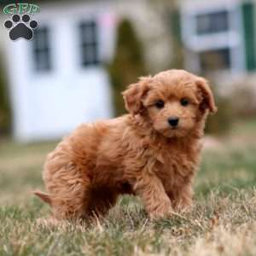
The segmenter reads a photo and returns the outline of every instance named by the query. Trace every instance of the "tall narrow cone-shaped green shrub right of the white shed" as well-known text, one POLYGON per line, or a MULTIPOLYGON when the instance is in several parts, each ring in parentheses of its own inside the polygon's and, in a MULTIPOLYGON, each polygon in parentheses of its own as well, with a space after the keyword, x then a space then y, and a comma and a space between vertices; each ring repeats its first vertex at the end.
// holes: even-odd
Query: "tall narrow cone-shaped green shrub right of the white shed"
POLYGON ((116 51, 108 67, 113 86, 115 114, 125 113, 121 92, 137 78, 146 74, 143 60, 143 45, 129 20, 121 20, 117 30, 116 51))

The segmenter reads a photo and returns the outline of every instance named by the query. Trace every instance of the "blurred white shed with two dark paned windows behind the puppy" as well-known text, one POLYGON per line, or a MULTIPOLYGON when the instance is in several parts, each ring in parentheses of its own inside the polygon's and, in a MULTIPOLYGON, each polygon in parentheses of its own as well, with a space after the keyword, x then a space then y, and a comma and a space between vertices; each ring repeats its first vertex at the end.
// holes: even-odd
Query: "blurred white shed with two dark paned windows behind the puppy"
MULTIPOLYGON (((23 142, 58 138, 79 123, 113 113, 103 67, 113 55, 116 24, 108 5, 39 6, 40 13, 32 15, 38 21, 32 41, 11 41, 7 30, 1 32, 14 135, 23 142)), ((9 17, 2 15, 2 20, 9 17)))

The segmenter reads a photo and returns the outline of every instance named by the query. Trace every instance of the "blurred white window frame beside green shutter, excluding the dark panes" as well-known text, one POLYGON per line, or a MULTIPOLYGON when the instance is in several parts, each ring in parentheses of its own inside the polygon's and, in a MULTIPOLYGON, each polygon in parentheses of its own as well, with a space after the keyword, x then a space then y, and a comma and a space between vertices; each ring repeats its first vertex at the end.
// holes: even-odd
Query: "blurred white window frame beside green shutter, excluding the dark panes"
MULTIPOLYGON (((245 52, 242 38, 242 17, 239 4, 212 3, 207 5, 183 5, 181 11, 183 44, 188 49, 185 58, 186 68, 201 73, 200 54, 205 51, 230 49, 230 68, 217 70, 230 73, 245 71, 245 52), (211 15, 218 12, 228 13, 228 30, 212 33, 197 33, 197 15, 211 15), (190 59, 190 60, 189 60, 190 59)), ((214 73, 215 71, 212 71, 214 73)))

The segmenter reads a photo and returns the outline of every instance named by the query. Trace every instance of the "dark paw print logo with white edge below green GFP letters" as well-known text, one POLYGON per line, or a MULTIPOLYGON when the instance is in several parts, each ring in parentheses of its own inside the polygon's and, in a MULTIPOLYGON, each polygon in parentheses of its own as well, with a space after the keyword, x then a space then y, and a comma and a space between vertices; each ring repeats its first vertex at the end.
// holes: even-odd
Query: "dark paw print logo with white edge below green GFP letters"
POLYGON ((13 15, 12 20, 6 20, 4 26, 9 30, 9 38, 16 40, 24 38, 31 40, 33 38, 33 30, 38 27, 36 20, 30 20, 29 15, 13 15))

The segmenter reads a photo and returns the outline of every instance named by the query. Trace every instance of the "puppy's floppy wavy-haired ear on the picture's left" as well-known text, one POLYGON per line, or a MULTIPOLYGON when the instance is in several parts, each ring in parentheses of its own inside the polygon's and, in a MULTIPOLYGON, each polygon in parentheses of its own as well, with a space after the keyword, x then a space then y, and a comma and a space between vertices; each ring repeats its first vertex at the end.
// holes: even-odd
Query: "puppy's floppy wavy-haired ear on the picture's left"
POLYGON ((130 84, 128 89, 122 95, 125 101, 125 108, 132 114, 137 114, 143 110, 143 96, 149 90, 149 81, 151 77, 141 78, 137 84, 130 84))

